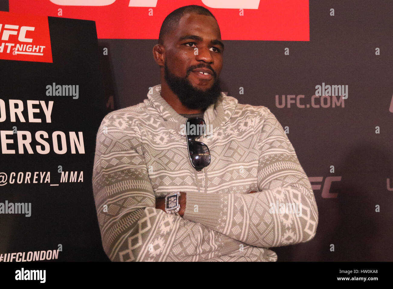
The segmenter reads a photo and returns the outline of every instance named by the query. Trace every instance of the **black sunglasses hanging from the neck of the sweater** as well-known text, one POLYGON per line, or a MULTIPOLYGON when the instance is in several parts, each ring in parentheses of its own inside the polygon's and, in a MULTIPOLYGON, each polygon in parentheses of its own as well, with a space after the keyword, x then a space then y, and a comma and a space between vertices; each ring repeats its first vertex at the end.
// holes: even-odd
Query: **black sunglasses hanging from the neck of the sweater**
POLYGON ((205 120, 200 117, 191 117, 185 121, 185 134, 187 137, 187 149, 191 165, 196 171, 202 170, 210 163, 210 151, 206 144, 196 141, 206 132, 205 120))

